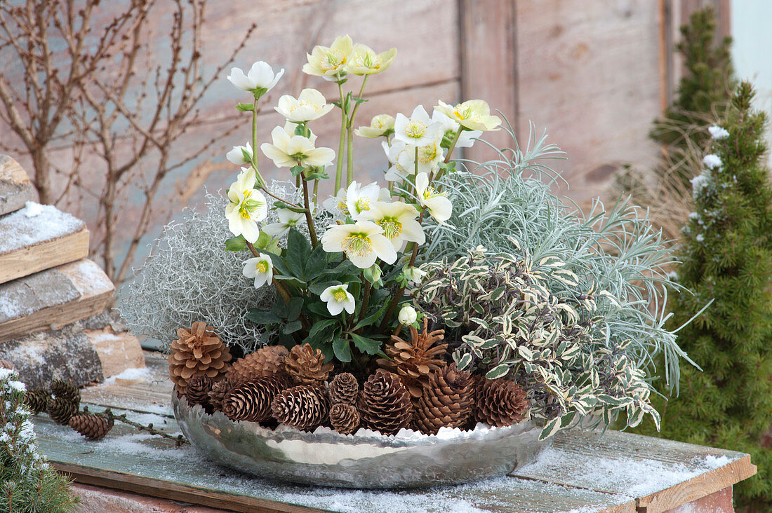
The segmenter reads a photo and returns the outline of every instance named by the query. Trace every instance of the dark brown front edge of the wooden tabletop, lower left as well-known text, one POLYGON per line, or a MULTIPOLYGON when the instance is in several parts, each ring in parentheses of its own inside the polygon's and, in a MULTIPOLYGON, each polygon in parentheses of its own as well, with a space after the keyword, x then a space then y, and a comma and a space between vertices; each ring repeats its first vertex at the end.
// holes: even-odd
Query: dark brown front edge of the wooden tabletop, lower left
POLYGON ((128 491, 172 501, 184 501, 209 508, 221 508, 230 511, 253 511, 254 513, 327 513, 321 509, 305 508, 303 506, 245 497, 222 491, 210 491, 205 488, 184 486, 173 481, 144 478, 124 472, 105 471, 99 468, 59 461, 49 461, 49 464, 56 471, 66 474, 77 483, 128 491))

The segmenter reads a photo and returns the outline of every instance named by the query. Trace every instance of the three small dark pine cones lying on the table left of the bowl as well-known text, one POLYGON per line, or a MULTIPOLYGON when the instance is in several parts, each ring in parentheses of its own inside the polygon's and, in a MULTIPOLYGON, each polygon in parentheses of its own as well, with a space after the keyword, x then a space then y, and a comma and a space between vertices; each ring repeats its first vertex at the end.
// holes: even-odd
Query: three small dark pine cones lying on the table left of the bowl
POLYGON ((49 390, 28 390, 24 402, 32 413, 48 413, 56 424, 72 427, 90 440, 103 438, 113 420, 91 413, 79 413, 80 390, 64 380, 53 380, 49 390))

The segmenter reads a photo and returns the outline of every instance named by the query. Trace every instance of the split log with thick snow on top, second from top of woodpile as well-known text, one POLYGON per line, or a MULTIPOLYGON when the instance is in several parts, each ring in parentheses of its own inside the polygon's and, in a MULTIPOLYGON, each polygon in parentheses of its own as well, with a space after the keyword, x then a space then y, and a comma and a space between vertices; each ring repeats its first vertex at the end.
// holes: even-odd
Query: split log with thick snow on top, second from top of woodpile
POLYGON ((88 254, 86 224, 56 207, 30 204, 0 218, 0 283, 88 254))

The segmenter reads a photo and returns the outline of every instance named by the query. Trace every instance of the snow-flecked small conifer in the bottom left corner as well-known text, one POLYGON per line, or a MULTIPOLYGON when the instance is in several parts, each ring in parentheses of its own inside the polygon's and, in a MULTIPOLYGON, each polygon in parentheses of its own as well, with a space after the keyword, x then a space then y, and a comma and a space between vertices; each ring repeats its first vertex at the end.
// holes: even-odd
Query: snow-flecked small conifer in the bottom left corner
POLYGON ((40 455, 24 383, 0 369, 0 513, 64 513, 76 505, 67 480, 40 455))

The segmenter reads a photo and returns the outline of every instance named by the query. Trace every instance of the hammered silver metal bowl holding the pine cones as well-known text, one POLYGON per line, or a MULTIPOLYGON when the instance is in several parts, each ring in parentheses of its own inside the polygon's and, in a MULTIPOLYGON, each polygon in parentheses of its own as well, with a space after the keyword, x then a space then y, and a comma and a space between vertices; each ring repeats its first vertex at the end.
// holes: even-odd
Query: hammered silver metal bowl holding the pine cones
POLYGON ((191 444, 209 459, 239 471, 293 483, 344 488, 420 488, 461 484, 510 473, 550 444, 524 420, 510 427, 478 424, 472 431, 442 428, 437 435, 402 430, 383 436, 360 429, 344 435, 208 415, 172 393, 174 417, 191 444))

